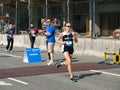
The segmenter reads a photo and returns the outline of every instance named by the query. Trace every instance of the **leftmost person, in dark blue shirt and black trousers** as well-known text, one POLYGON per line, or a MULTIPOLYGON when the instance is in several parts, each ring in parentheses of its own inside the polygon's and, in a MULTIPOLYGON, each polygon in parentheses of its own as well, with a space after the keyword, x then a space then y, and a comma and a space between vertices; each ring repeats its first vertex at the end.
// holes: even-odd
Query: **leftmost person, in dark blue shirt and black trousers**
POLYGON ((8 29, 6 30, 7 34, 7 46, 6 46, 6 51, 13 52, 13 43, 14 43, 14 33, 15 30, 13 28, 12 24, 9 24, 8 29))

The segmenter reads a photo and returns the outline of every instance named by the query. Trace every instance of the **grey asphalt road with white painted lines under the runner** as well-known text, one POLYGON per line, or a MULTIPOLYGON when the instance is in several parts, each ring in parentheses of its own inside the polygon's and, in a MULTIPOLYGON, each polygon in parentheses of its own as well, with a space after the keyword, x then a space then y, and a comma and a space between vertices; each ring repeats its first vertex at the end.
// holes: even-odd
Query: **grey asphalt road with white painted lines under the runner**
MULTIPOLYGON (((56 69, 54 66, 46 65, 46 51, 41 51, 43 62, 31 64, 23 62, 24 52, 25 48, 14 47, 14 52, 9 53, 5 51, 5 46, 0 46, 0 76, 10 76, 0 79, 0 90, 120 90, 120 68, 80 69, 73 72, 78 78, 78 82, 72 83, 66 71, 59 72, 58 70, 58 72, 53 73, 32 74, 33 72, 39 72, 38 69, 34 70, 33 67, 39 67, 40 69, 45 67, 46 69, 43 69, 43 71, 47 70, 47 72, 50 72, 49 70, 52 68, 53 71, 56 69), (28 71, 31 75, 24 75, 24 72, 27 71, 23 69, 23 75, 11 77, 12 70, 18 70, 18 68, 29 68, 28 71), (32 69, 34 71, 31 71, 32 69)), ((55 59, 60 58, 63 58, 61 52, 55 52, 55 59)), ((83 65, 82 63, 100 62, 103 58, 74 55, 73 60, 73 64, 83 65)), ((87 68, 86 64, 82 68, 87 68)), ((13 71, 12 74, 18 74, 16 72, 13 71)))

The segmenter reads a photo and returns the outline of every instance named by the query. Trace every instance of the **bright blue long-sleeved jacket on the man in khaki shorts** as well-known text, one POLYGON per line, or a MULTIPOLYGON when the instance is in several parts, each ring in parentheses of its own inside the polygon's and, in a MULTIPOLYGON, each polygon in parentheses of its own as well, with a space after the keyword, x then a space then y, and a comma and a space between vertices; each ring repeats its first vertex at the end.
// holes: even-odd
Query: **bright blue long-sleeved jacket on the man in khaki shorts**
POLYGON ((46 25, 46 40, 47 42, 55 42, 55 26, 46 25))

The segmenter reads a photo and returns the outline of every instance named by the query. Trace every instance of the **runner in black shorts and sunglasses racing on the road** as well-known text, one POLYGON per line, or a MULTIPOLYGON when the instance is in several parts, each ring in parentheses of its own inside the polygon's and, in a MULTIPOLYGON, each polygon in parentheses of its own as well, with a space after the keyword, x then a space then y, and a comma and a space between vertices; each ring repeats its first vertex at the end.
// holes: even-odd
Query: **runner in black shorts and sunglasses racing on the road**
POLYGON ((75 41, 77 43, 78 39, 77 39, 77 35, 75 34, 75 32, 73 32, 71 29, 72 29, 71 24, 66 23, 65 31, 63 31, 56 40, 56 42, 58 44, 62 44, 62 52, 66 59, 65 61, 59 60, 56 63, 56 68, 59 68, 62 65, 66 65, 69 75, 70 75, 70 80, 73 82, 77 82, 77 80, 75 79, 75 77, 73 76, 73 73, 72 73, 72 54, 74 52, 73 41, 75 41), (62 39, 62 41, 61 41, 61 39, 62 39))

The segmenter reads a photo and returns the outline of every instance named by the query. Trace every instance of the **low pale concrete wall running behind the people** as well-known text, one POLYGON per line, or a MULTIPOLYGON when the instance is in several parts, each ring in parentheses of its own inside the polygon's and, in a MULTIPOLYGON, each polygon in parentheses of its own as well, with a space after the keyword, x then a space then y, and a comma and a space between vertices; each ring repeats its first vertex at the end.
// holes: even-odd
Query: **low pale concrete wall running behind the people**
MULTIPOLYGON (((104 52, 118 52, 120 48, 120 40, 116 39, 91 39, 91 38, 79 38, 78 43, 74 44, 75 54, 81 55, 94 55, 103 57, 104 52)), ((6 35, 0 35, 0 42, 6 45, 6 35)), ((14 39, 14 46, 18 47, 30 47, 30 40, 28 35, 16 35, 14 39)), ((39 47, 41 50, 46 50, 45 36, 37 36, 35 47, 39 47)), ((55 44, 55 50, 61 51, 61 45, 55 44)))

